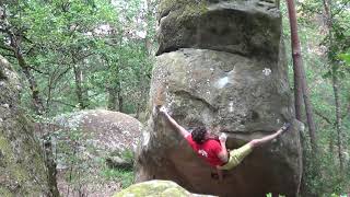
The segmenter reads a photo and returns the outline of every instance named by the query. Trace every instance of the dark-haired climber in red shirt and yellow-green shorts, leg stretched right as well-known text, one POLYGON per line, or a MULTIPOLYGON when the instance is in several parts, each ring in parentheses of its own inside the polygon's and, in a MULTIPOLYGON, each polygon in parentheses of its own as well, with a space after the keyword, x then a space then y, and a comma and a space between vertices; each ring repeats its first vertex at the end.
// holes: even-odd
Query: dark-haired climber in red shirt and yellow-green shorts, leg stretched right
POLYGON ((268 135, 259 139, 253 139, 243 147, 228 152, 225 146, 228 137, 224 132, 221 134, 219 140, 213 139, 210 131, 202 126, 197 127, 189 132, 168 115, 164 106, 160 107, 160 112, 167 118, 172 126, 175 127, 175 130, 177 130, 187 140, 196 153, 203 158, 209 165, 217 169, 219 181, 223 179, 222 170, 231 170, 235 167, 253 151, 254 148, 277 138, 290 127, 289 123, 284 124, 272 135, 268 135))

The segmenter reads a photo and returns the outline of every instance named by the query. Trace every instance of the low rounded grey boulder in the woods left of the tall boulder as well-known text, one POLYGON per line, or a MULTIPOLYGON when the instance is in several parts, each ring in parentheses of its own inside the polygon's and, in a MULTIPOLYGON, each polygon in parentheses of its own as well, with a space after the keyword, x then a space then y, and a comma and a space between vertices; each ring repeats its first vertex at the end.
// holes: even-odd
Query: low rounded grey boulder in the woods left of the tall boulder
POLYGON ((105 109, 81 111, 58 116, 55 121, 72 130, 80 129, 86 143, 108 152, 135 150, 142 129, 142 124, 136 118, 105 109))

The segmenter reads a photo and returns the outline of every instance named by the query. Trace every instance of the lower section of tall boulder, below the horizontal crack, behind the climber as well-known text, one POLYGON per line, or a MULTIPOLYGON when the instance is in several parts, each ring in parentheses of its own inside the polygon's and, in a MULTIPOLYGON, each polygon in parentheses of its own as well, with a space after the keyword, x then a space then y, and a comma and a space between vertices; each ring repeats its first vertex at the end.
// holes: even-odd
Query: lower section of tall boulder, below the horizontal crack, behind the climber
MULTIPOLYGON (((164 86, 164 103, 187 129, 220 125, 233 149, 293 121, 285 67, 264 65, 229 53, 182 49, 158 57, 151 101, 164 86), (270 71, 267 71, 270 70, 270 71)), ((192 153, 176 131, 153 114, 144 131, 138 161, 139 181, 174 179, 195 193, 215 195, 295 194, 301 177, 300 125, 279 140, 257 149, 224 183, 192 153)))

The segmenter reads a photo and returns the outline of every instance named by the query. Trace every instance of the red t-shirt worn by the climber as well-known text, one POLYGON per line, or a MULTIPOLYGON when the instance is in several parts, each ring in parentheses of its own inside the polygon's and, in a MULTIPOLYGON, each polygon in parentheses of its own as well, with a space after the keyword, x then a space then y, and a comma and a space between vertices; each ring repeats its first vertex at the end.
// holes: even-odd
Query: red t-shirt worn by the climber
POLYGON ((192 136, 188 135, 186 137, 187 142, 189 146, 195 150, 195 152, 203 158, 210 165, 223 165, 224 163, 218 158, 219 152, 221 151, 221 146, 219 141, 209 139, 205 141, 202 144, 196 143, 192 140, 192 136))

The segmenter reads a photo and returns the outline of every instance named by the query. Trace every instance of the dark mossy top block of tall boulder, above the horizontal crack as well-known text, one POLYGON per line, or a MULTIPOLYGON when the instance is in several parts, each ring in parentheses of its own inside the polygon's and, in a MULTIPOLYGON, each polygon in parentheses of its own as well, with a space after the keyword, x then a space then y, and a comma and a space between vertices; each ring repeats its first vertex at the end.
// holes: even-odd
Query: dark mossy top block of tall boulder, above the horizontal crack
POLYGON ((278 58, 281 16, 273 0, 163 0, 158 55, 203 48, 278 58))

